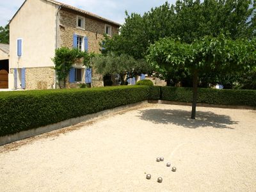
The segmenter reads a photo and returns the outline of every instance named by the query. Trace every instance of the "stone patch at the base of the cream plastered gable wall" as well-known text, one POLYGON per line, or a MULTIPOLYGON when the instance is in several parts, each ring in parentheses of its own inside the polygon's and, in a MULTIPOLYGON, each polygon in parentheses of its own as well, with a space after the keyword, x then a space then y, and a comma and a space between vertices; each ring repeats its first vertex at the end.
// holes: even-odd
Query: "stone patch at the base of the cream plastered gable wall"
POLYGON ((26 68, 26 90, 47 90, 54 88, 54 68, 26 68))

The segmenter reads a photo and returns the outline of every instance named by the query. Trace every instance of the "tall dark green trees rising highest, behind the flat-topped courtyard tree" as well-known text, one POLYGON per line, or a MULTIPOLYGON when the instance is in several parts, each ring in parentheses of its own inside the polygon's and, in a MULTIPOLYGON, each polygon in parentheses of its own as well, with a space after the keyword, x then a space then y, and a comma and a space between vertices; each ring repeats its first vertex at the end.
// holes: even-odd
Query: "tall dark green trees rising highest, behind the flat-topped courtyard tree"
MULTIPOLYGON (((179 38, 180 42, 187 44, 207 35, 217 37, 222 33, 232 40, 252 39, 256 33, 255 5, 252 0, 183 0, 175 5, 166 2, 142 16, 126 12, 120 35, 105 38, 104 52, 144 59, 150 44, 164 37, 179 38)), ((156 72, 167 82, 186 83, 186 79, 192 78, 182 68, 171 73, 170 70, 166 72, 156 68, 156 72)), ((211 78, 205 74, 200 82, 202 86, 207 86, 217 80, 217 74, 211 74, 211 78)))

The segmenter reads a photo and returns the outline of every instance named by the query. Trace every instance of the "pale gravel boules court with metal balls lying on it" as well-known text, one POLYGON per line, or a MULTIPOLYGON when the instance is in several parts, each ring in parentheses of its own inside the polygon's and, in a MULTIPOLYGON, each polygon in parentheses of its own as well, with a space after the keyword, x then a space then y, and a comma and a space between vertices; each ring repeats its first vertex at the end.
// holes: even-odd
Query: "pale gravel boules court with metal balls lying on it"
POLYGON ((0 191, 256 191, 256 111, 190 111, 145 104, 1 146, 0 191))

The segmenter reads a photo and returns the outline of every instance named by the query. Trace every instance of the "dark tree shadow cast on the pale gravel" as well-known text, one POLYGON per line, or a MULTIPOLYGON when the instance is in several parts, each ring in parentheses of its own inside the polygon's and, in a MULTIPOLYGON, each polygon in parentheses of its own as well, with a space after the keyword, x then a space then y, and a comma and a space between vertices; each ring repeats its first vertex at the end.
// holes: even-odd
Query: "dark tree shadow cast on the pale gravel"
POLYGON ((185 128, 214 127, 218 129, 234 129, 228 125, 237 124, 228 115, 217 115, 211 111, 196 111, 196 119, 191 119, 191 111, 179 109, 147 109, 140 111, 141 120, 154 124, 174 124, 185 128))

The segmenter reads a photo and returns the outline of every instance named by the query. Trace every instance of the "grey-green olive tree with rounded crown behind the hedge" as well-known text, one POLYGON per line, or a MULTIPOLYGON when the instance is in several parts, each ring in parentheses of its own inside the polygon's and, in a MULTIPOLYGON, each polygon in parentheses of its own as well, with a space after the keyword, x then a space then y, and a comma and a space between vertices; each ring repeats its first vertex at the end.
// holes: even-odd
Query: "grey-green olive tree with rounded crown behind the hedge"
POLYGON ((103 76, 118 74, 122 85, 132 77, 150 73, 150 67, 145 60, 135 60, 127 54, 99 55, 93 58, 92 63, 96 72, 103 76))

